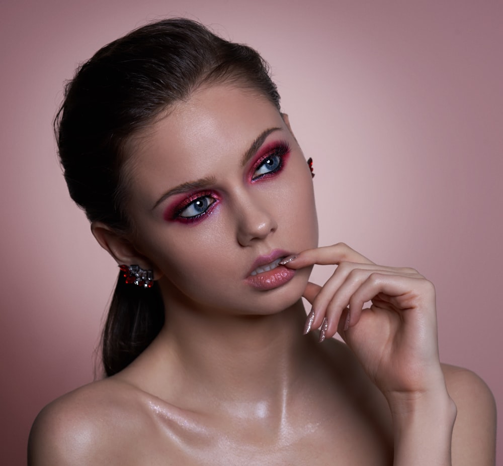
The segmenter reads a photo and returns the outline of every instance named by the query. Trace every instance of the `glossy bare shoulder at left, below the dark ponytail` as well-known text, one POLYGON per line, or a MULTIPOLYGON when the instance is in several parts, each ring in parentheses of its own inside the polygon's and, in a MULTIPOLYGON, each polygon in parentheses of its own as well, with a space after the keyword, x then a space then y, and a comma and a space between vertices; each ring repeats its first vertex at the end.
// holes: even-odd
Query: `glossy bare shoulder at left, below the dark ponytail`
POLYGON ((134 438, 132 427, 128 432, 127 426, 137 429, 148 422, 139 405, 137 390, 112 379, 63 395, 35 419, 28 444, 28 464, 100 465, 111 464, 111 458, 119 460, 123 447, 134 438), (117 436, 119 428, 121 435, 117 436))

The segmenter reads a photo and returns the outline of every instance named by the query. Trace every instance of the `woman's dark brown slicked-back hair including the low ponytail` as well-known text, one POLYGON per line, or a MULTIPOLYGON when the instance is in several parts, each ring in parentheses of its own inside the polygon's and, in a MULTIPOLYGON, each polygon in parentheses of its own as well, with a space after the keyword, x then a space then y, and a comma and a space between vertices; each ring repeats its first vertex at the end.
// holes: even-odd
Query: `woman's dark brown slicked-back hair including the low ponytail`
MULTIPOLYGON (((221 82, 253 89, 280 108, 269 67, 254 49, 183 18, 138 28, 77 69, 54 128, 68 191, 90 221, 131 231, 123 173, 131 138, 202 84, 221 82)), ((106 374, 130 364, 163 324, 157 284, 126 285, 119 275, 103 331, 106 374)))

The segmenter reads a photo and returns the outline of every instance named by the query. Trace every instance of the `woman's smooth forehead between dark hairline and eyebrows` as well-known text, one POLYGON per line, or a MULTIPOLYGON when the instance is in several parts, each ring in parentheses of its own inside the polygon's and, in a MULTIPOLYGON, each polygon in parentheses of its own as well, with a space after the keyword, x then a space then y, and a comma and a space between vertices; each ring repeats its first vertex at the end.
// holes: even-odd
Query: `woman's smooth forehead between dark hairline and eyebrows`
POLYGON ((225 84, 200 88, 137 138, 127 164, 131 181, 162 176, 165 185, 205 176, 222 156, 239 162, 255 138, 272 127, 284 128, 283 119, 256 91, 225 84), (162 175, 152 171, 166 165, 170 169, 162 175))

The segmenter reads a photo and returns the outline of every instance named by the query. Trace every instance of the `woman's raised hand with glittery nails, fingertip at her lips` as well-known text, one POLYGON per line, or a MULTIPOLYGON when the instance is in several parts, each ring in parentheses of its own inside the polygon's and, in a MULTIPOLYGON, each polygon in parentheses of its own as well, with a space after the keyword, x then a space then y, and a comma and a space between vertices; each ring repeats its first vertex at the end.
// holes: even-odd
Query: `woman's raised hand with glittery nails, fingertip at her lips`
POLYGON ((414 269, 378 266, 345 244, 303 251, 285 266, 313 264, 338 267, 323 286, 306 287, 306 332, 320 327, 323 340, 339 331, 390 405, 446 393, 430 281, 414 269))

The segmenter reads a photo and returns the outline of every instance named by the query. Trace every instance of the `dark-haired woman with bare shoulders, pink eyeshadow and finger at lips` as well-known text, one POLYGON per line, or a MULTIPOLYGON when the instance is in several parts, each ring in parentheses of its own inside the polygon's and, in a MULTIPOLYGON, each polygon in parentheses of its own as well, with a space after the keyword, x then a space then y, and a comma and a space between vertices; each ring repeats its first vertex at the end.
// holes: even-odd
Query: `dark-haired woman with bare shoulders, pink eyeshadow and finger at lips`
POLYGON ((433 285, 317 247, 312 165, 254 50, 145 26, 80 68, 56 128, 121 272, 108 377, 40 413, 30 464, 494 463, 494 401, 440 364, 433 285), (337 266, 323 286, 314 264, 337 266))

